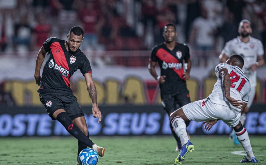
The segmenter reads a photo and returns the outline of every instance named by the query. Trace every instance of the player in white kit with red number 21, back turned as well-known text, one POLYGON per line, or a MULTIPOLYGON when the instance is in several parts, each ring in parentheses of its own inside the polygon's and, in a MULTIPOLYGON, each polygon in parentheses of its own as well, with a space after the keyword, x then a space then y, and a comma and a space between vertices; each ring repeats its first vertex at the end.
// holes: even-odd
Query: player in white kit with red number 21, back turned
POLYGON ((226 63, 220 63, 215 67, 217 82, 208 98, 189 103, 170 115, 174 131, 182 144, 174 164, 181 164, 185 155, 194 150, 194 145, 188 139, 185 125, 185 121, 192 120, 204 121, 201 126, 206 123, 204 127, 206 130, 210 130, 217 120, 222 120, 229 127, 233 127, 247 153, 244 160, 240 162, 258 162, 253 154, 247 130, 240 122, 240 116, 247 106, 251 92, 249 78, 242 71, 243 65, 242 56, 238 54, 230 56, 226 63))

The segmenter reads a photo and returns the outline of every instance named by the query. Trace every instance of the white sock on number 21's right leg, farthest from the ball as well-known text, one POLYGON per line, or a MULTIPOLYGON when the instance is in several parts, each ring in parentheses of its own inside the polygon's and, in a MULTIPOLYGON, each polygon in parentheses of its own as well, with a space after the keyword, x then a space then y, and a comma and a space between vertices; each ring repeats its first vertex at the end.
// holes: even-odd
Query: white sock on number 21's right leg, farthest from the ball
POLYGON ((243 127, 241 131, 235 132, 235 133, 236 133, 236 137, 238 138, 238 141, 241 143, 245 152, 247 153, 247 160, 249 161, 252 160, 252 157, 255 157, 255 156, 252 152, 252 148, 251 148, 251 144, 249 140, 249 134, 247 133, 246 129, 243 127))

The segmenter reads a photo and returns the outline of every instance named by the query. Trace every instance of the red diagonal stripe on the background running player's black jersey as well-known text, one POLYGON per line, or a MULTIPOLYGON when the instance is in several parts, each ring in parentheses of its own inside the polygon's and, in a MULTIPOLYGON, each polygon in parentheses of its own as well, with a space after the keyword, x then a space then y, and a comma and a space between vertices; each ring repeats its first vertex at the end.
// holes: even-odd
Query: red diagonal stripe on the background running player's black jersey
MULTIPOLYGON (((168 63, 180 63, 176 58, 174 58, 169 52, 167 52, 165 49, 163 48, 160 48, 157 53, 156 53, 156 56, 158 58, 160 58, 160 60, 162 61, 165 61, 168 65, 168 63), (164 54, 166 54, 164 56, 164 54)), ((181 69, 175 69, 175 68, 172 68, 174 70, 174 72, 176 72, 176 74, 178 74, 178 76, 185 80, 185 78, 183 78, 183 74, 184 74, 184 69, 183 69, 183 65, 182 65, 182 68, 181 69)))

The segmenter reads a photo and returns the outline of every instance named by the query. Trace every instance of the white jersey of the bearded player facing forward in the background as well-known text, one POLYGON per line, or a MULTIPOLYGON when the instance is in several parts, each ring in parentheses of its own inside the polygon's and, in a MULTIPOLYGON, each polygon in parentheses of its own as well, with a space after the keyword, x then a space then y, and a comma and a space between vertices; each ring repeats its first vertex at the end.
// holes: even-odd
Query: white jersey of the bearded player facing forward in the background
POLYGON ((239 54, 244 58, 243 71, 250 79, 252 86, 256 86, 256 71, 250 70, 250 65, 257 62, 257 56, 263 56, 263 45, 260 40, 249 36, 249 42, 244 43, 239 36, 228 41, 222 51, 226 56, 239 54))

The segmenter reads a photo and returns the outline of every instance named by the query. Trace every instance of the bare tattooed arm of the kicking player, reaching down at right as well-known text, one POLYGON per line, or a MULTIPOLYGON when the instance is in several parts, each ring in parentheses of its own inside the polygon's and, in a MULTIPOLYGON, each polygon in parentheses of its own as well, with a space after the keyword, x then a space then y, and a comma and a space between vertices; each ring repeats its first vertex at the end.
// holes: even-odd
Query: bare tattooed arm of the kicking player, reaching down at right
POLYGON ((98 123, 101 121, 101 111, 98 108, 97 104, 97 91, 95 84, 92 80, 92 74, 91 73, 85 73, 84 74, 87 90, 89 92, 90 98, 92 99, 92 115, 94 118, 98 118, 98 123))

